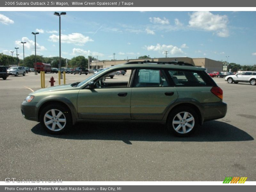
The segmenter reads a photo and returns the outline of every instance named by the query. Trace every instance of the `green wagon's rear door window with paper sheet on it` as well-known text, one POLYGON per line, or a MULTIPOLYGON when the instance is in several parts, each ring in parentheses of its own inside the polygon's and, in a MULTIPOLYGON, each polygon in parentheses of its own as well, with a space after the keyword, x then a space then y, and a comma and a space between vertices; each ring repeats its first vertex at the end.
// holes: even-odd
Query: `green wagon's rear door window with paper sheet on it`
POLYGON ((167 78, 161 69, 138 69, 133 87, 168 87, 167 78))

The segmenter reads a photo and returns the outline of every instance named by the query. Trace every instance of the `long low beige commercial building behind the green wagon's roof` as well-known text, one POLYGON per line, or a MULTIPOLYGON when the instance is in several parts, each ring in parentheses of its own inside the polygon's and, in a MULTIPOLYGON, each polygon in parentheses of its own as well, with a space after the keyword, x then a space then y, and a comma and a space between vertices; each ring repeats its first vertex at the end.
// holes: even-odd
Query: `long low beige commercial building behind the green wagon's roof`
POLYGON ((149 59, 130 59, 130 60, 105 60, 105 61, 92 61, 90 62, 90 68, 99 69, 99 68, 107 68, 114 65, 119 65, 126 63, 128 61, 159 61, 159 62, 168 62, 168 61, 183 61, 186 63, 191 63, 197 67, 206 68, 208 72, 212 71, 222 71, 222 62, 208 59, 208 58, 189 58, 189 57, 168 57, 168 58, 149 58, 149 59))

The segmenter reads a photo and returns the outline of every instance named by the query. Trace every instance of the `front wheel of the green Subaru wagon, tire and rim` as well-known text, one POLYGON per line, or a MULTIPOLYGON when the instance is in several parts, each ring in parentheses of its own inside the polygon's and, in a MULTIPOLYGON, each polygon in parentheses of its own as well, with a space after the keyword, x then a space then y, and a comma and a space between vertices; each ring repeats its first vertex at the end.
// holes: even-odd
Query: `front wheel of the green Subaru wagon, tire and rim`
POLYGON ((40 114, 40 124, 48 133, 60 134, 70 129, 72 116, 66 107, 51 104, 43 108, 40 114))

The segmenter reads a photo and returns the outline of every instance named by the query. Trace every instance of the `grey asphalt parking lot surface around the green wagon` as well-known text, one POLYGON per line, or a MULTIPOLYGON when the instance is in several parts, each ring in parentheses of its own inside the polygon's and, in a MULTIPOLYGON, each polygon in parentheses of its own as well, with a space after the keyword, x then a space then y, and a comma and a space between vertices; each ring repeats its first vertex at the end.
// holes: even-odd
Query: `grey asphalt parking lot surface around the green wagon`
MULTIPOLYGON (((46 86, 51 76, 58 83, 57 74, 46 74, 46 86)), ((85 77, 67 74, 66 83, 85 77)), ((223 89, 228 113, 188 138, 170 135, 161 124, 86 123, 50 135, 20 112, 28 93, 40 89, 40 75, 1 79, 0 180, 255 181, 256 86, 213 79, 223 89)))

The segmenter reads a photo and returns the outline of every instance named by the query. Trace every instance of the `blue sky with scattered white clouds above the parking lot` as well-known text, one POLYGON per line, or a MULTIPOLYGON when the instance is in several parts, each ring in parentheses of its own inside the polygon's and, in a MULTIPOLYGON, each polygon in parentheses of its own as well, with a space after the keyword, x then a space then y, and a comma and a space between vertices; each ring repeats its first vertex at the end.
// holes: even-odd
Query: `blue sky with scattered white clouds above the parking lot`
MULTIPOLYGON (((54 11, 0 11, 0 53, 19 58, 59 56, 59 17, 54 11)), ((66 11, 61 15, 61 57, 98 60, 209 58, 256 64, 253 11, 66 11), (113 54, 115 53, 115 55, 113 54)))

